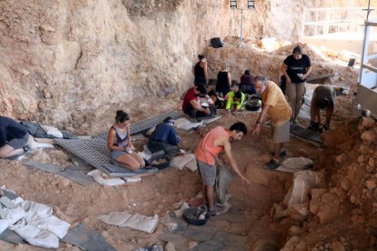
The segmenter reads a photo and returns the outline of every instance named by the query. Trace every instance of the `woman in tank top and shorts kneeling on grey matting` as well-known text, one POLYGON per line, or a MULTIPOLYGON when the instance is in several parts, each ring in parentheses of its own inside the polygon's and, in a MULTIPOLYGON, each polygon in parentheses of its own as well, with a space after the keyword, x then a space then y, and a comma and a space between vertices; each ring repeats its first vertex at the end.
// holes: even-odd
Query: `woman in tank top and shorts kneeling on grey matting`
POLYGON ((118 110, 116 124, 111 126, 107 136, 107 147, 111 157, 119 166, 136 171, 145 166, 144 160, 131 143, 129 116, 123 110, 118 110))

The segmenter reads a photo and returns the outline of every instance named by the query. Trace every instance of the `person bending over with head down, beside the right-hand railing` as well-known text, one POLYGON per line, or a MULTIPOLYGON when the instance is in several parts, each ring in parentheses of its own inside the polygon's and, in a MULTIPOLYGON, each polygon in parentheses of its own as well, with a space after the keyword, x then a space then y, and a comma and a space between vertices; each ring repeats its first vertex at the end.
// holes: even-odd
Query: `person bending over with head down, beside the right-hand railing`
POLYGON ((321 111, 326 110, 323 129, 330 129, 331 116, 334 112, 335 90, 331 85, 320 85, 315 88, 311 98, 311 125, 308 129, 321 132, 321 111), (317 122, 316 122, 317 121, 317 122))

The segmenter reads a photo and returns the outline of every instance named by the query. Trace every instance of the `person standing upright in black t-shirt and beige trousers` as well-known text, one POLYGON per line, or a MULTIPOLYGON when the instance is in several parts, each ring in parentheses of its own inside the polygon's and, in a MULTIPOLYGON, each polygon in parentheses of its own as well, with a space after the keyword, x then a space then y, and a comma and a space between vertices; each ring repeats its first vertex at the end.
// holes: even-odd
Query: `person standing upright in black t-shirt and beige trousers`
POLYGON ((292 109, 291 122, 296 124, 305 95, 306 77, 311 74, 311 59, 308 55, 302 54, 301 46, 296 46, 292 55, 281 64, 280 70, 286 78, 285 92, 292 109))

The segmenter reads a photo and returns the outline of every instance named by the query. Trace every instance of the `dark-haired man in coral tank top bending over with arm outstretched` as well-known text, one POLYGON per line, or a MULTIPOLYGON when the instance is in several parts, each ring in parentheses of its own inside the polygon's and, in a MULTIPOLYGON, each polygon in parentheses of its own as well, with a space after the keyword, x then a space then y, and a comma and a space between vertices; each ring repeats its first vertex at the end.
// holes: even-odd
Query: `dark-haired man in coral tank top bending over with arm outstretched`
POLYGON ((202 138, 195 152, 195 156, 198 161, 199 175, 203 182, 202 194, 204 202, 208 203, 209 214, 212 216, 218 215, 223 207, 219 204, 215 205, 214 186, 216 180, 216 161, 220 152, 225 151, 225 155, 228 157, 229 165, 234 172, 240 176, 243 181, 250 184, 250 181, 239 171, 236 161, 231 155, 231 141, 239 140, 242 136, 245 136, 248 132, 246 125, 242 122, 237 122, 230 126, 229 130, 217 126, 209 131, 209 133, 202 138))

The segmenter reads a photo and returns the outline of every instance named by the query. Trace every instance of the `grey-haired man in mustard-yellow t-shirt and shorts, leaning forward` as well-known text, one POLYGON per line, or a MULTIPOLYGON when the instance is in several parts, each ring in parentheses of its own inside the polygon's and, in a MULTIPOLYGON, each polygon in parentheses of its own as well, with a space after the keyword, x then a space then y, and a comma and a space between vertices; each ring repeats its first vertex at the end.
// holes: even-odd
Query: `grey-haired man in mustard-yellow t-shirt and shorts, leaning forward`
POLYGON ((280 164, 280 156, 286 156, 284 143, 290 141, 290 116, 292 111, 280 87, 272 81, 267 81, 265 76, 257 75, 254 78, 254 86, 262 98, 262 110, 254 126, 253 135, 260 133, 260 125, 266 121, 267 115, 269 115, 275 151, 273 158, 266 164, 266 167, 274 170, 280 164))

